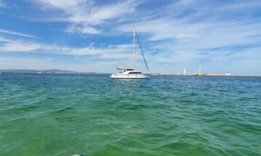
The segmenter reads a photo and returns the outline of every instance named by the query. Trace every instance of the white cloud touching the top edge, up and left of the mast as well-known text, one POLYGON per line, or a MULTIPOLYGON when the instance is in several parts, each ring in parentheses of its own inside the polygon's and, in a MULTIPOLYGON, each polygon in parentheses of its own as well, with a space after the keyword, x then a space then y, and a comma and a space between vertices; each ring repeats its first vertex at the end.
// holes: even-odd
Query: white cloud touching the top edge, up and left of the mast
MULTIPOLYGON (((66 32, 83 34, 99 34, 101 31, 95 25, 101 25, 110 20, 128 19, 128 14, 135 11, 139 4, 133 0, 119 1, 106 5, 96 5, 94 1, 86 0, 39 0, 43 6, 50 9, 57 9, 64 12, 62 17, 50 16, 50 21, 69 21, 66 32)), ((53 14, 52 14, 53 15, 53 14)))

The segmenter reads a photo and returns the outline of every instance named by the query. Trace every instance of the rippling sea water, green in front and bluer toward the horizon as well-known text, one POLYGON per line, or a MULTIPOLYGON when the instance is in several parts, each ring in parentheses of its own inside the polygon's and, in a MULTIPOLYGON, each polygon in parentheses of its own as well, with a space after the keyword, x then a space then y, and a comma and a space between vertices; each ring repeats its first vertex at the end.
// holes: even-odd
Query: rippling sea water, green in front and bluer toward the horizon
POLYGON ((0 155, 261 155, 261 78, 0 75, 0 155))

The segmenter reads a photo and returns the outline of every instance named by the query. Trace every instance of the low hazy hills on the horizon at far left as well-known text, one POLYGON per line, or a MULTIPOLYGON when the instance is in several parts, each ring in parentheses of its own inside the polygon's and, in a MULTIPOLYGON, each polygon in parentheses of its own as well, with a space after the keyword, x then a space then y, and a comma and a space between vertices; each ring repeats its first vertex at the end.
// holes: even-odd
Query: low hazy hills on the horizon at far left
POLYGON ((1 69, 0 73, 24 73, 24 74, 90 74, 59 69, 33 70, 33 69, 1 69))

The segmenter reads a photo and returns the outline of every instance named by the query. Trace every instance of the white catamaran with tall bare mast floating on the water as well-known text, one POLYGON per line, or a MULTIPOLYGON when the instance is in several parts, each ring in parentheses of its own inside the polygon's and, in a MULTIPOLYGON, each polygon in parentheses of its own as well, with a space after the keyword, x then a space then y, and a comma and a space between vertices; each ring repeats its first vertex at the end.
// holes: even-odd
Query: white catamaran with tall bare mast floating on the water
POLYGON ((139 36, 137 35, 135 27, 133 27, 133 68, 119 68, 117 67, 117 70, 119 71, 118 74, 111 74, 110 78, 113 79, 147 79, 148 76, 145 74, 142 74, 142 71, 136 70, 136 62, 137 62, 137 52, 136 52, 136 38, 139 43, 139 48, 142 52, 142 56, 144 59, 144 63, 146 65, 146 69, 148 71, 148 65, 146 63, 146 59, 143 54, 142 46, 140 45, 139 42, 139 36))

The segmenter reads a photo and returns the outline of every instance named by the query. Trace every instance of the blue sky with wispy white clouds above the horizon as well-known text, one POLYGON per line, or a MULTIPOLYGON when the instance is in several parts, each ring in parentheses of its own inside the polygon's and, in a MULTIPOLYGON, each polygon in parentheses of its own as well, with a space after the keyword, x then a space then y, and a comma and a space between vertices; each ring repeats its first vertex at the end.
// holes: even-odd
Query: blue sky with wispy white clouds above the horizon
POLYGON ((0 69, 133 67, 133 26, 151 72, 261 74, 260 0, 0 0, 0 69))

